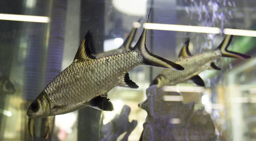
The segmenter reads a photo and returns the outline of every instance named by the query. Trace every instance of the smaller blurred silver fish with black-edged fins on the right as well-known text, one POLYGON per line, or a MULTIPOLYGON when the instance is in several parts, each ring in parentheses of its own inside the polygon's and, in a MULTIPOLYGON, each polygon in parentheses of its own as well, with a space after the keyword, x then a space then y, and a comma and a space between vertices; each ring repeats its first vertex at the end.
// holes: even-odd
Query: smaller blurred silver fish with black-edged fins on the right
POLYGON ((163 70, 150 84, 162 87, 163 85, 176 85, 191 79, 195 84, 204 87, 204 81, 198 76, 204 70, 221 70, 214 63, 215 59, 221 57, 231 57, 238 59, 248 59, 251 56, 228 51, 227 47, 232 41, 233 35, 227 35, 215 51, 192 56, 189 52, 189 39, 186 40, 180 51, 179 58, 175 63, 182 65, 184 71, 163 70))

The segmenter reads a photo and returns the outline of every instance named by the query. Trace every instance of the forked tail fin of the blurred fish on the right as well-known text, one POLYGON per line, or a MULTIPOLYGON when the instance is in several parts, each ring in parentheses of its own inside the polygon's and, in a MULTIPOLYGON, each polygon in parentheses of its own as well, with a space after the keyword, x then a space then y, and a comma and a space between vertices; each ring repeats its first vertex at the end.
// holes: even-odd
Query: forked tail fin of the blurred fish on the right
POLYGON ((221 51, 222 57, 231 57, 231 58, 239 58, 239 59, 248 59, 251 56, 246 54, 240 54, 233 51, 228 51, 227 47, 230 45, 230 42, 232 41, 233 35, 227 35, 224 40, 221 42, 221 44, 218 46, 216 50, 221 51))

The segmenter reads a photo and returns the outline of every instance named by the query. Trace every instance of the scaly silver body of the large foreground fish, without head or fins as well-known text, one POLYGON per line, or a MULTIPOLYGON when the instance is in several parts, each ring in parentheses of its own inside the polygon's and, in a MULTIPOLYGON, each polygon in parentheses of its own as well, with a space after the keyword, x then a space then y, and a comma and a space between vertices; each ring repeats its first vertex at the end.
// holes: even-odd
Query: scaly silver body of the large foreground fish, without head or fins
MULTIPOLYGON (((69 113, 73 108, 85 107, 85 102, 103 96, 122 81, 125 74, 143 57, 136 51, 90 61, 75 61, 45 88, 44 94, 52 105, 72 105, 70 108, 52 109, 52 114, 69 113), (60 99, 61 98, 61 99, 60 99), (76 103, 76 104, 74 104, 76 103)), ((52 116, 52 115, 50 115, 52 116)))

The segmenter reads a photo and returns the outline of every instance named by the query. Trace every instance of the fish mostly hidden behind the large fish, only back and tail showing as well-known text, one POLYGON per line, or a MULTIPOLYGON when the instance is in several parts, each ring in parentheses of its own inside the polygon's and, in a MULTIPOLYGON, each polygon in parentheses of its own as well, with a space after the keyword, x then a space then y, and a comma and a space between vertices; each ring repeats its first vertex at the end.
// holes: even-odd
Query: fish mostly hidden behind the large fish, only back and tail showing
MULTIPOLYGON (((140 23, 140 20, 138 20, 138 23, 140 23)), ((96 54, 96 58, 102 58, 102 57, 105 57, 105 56, 111 56, 111 55, 114 55, 114 54, 123 53, 125 51, 130 51, 132 49, 131 43, 134 40, 137 29, 138 28, 135 28, 135 27, 132 28, 130 34, 128 35, 128 37, 126 38, 125 42, 122 44, 121 47, 119 47, 117 49, 113 49, 111 51, 106 51, 106 52, 96 54)))

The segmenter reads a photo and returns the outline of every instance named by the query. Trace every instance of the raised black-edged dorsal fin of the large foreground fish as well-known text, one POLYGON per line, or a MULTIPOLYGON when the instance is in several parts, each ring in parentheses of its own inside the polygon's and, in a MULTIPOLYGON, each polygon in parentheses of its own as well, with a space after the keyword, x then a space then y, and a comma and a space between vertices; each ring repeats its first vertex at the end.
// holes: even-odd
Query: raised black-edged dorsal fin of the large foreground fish
POLYGON ((78 60, 96 59, 96 57, 93 55, 92 51, 89 48, 89 38, 90 38, 90 30, 85 34, 84 39, 79 45, 74 61, 76 59, 78 60))

